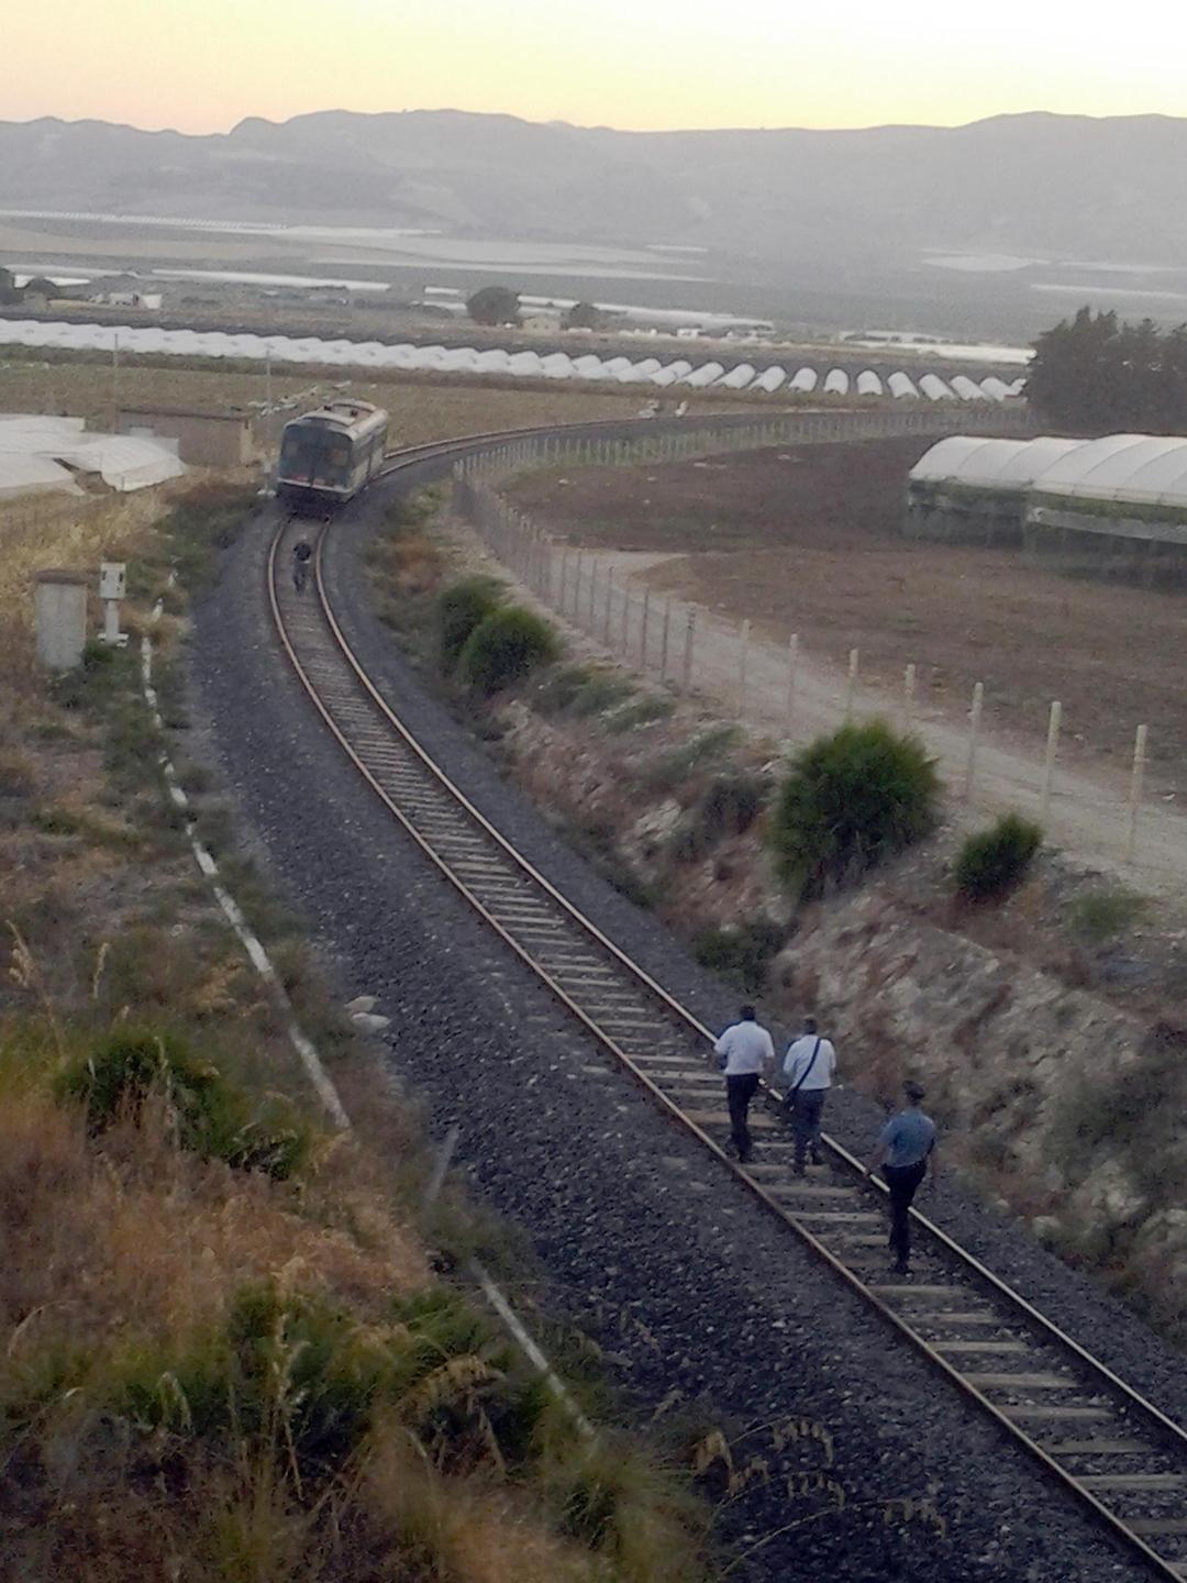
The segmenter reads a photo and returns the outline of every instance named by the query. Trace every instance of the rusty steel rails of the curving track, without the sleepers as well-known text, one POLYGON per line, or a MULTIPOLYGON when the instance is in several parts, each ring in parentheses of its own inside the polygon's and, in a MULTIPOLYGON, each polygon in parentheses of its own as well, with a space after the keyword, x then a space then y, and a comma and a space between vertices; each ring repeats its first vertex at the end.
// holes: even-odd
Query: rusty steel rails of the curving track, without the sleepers
MULTIPOLYGON (((586 427, 586 426, 582 426, 586 427)), ((516 437, 524 437, 527 434, 541 434, 557 431, 540 431, 540 429, 524 429, 513 431, 516 437)), ((503 438, 510 438, 511 434, 484 434, 484 435, 467 435, 453 442, 429 442, 421 446, 408 448, 407 451, 394 454, 383 469, 383 476, 391 476, 394 473, 404 472, 418 462, 432 459, 435 456, 457 456, 464 451, 473 448, 475 445, 497 443, 503 438)), ((1075 1475, 1065 1466, 1062 1466, 1035 1437, 1026 1433, 1019 1423, 1011 1418, 997 1403, 989 1399, 981 1388, 978 1388, 972 1379, 965 1377, 958 1368, 954 1368, 935 1346, 931 1346, 927 1339, 920 1334, 902 1315, 899 1315, 886 1301, 882 1300, 878 1292, 872 1290, 870 1285, 861 1277, 859 1273, 851 1270, 842 1258, 839 1258, 821 1239, 813 1235, 809 1227, 806 1227, 793 1211, 788 1211, 760 1181, 749 1175, 739 1164, 736 1164, 695 1119, 692 1119, 681 1103, 677 1103, 669 1094, 666 1094, 646 1070, 639 1065, 631 1054, 622 1048, 617 1038, 598 1024, 598 1021, 589 1013, 586 1007, 581 1005, 578 999, 557 980, 556 974, 551 972, 544 962, 538 961, 532 950, 525 947, 511 929, 508 929, 494 915, 489 905, 481 899, 472 883, 468 883, 449 861, 434 847, 432 841, 416 828, 413 818, 410 818, 405 810, 399 806, 397 799, 385 788, 377 774, 364 761, 362 755, 356 750, 356 744, 351 742, 348 731, 345 731, 339 722, 334 719, 332 709, 328 708, 323 697, 318 692, 317 681, 310 676, 307 665, 302 662, 302 655, 298 652, 298 644, 293 641, 288 630, 285 614, 282 611, 279 592, 277 592, 277 552, 285 533, 286 522, 282 521, 279 526, 267 554, 267 595, 272 613, 272 621, 282 644, 282 649, 293 666, 301 685, 318 711, 320 717, 337 739, 339 746, 347 754, 348 760, 355 765, 359 774, 364 777, 372 792, 380 798, 383 806, 397 820, 397 823, 413 837, 421 852, 429 858, 434 867, 462 894, 470 907, 483 918, 483 921, 491 928, 511 951, 546 985, 552 997, 594 1037, 598 1043, 608 1050, 622 1069, 625 1069, 635 1081, 649 1094, 649 1097, 662 1107, 663 1113, 674 1124, 681 1126, 685 1132, 690 1132, 703 1148, 731 1171, 731 1175, 744 1184, 747 1192, 755 1197, 763 1208, 774 1214, 787 1228, 790 1228, 806 1246, 809 1246, 817 1257, 823 1258, 829 1268, 840 1276, 840 1279, 856 1292, 864 1303, 874 1308, 878 1315, 891 1323, 894 1330, 902 1334, 918 1352, 921 1352, 927 1363, 942 1372, 948 1380, 961 1388, 961 1391, 977 1403, 977 1406, 988 1412, 994 1422, 997 1422, 1010 1436, 1022 1445, 1033 1458, 1040 1461, 1048 1474, 1057 1479, 1067 1490, 1075 1493, 1079 1501, 1086 1502, 1097 1518, 1100 1518, 1117 1537, 1121 1537, 1132 1550, 1135 1550, 1143 1561, 1146 1561, 1160 1577, 1179 1578, 1187 1577, 1187 1567, 1182 1562, 1170 1561, 1154 1550, 1140 1532, 1136 1532, 1125 1518, 1117 1512, 1111 1510, 1103 1501, 1097 1498, 1092 1488, 1081 1482, 1086 1475, 1075 1475)), ((692 1032, 698 1040, 712 1042, 711 1031, 700 1023, 685 1007, 681 1005, 657 980, 649 975, 639 964, 636 964, 625 951, 622 951, 601 929, 597 928, 589 918, 584 917, 570 901, 565 898, 537 867, 532 864, 518 848, 506 841, 506 837, 475 807, 475 804, 465 796, 465 793, 448 777, 448 774, 435 763, 435 760, 421 747, 416 738, 408 731, 404 722, 394 714, 386 700, 381 697, 366 668, 355 654, 350 641, 347 640, 329 600, 329 594, 324 581, 323 570, 323 548, 324 548, 324 529, 318 533, 317 551, 315 551, 315 589, 318 597, 318 606, 321 621, 324 622, 324 630, 332 640, 334 652, 348 666, 350 676, 358 684, 359 697, 367 701, 367 704, 380 716, 386 727, 394 733, 402 747, 408 752, 413 763, 427 776, 429 782, 440 788, 449 803, 456 806, 459 815, 465 818, 468 825, 476 826, 486 841, 489 841, 500 856, 510 864, 510 867, 518 874, 525 877, 535 891, 544 894, 548 901, 557 909, 568 923, 571 923, 586 939, 592 940, 601 956, 609 958, 617 969, 622 969, 631 980, 633 985, 643 988, 649 997, 657 1000, 665 1015, 692 1032)), ((777 1091, 768 1091, 771 1097, 779 1099, 777 1091)), ((839 1160, 850 1173, 856 1173, 863 1184, 866 1183, 866 1173, 861 1164, 834 1138, 826 1137, 825 1143, 829 1152, 839 1160)), ((885 1194, 885 1187, 875 1183, 877 1187, 885 1194)), ((970 1274, 975 1282, 988 1285, 994 1295, 1003 1300, 1013 1314, 1021 1315, 1022 1320, 1032 1330, 1038 1330, 1041 1338, 1052 1342, 1062 1352, 1070 1353, 1075 1360, 1086 1368, 1097 1385, 1103 1385, 1109 1393, 1119 1396, 1125 1407, 1135 1409, 1144 1420, 1147 1426, 1154 1431, 1155 1447, 1160 1439, 1170 1439, 1178 1447, 1187 1447, 1187 1431, 1184 1431, 1178 1423, 1168 1418, 1159 1407, 1143 1398, 1133 1387, 1127 1385, 1113 1369, 1095 1358, 1087 1349, 1068 1336, 1060 1327, 1046 1319, 1032 1303, 1029 1303, 1021 1293, 1014 1292, 1005 1281, 995 1276, 981 1260, 973 1254, 967 1252, 956 1243, 946 1232, 937 1227, 931 1219, 912 1211, 915 1222, 920 1230, 924 1232, 926 1238, 935 1246, 942 1247, 962 1273, 970 1274)), ((809 1216, 810 1217, 810 1216, 809 1216)), ((924 1315, 926 1317, 926 1315, 924 1315)), ((1075 1382, 1068 1382, 1073 1385, 1075 1382)), ((1135 1455, 1143 1448, 1135 1445, 1135 1455)), ((1174 1475, 1159 1475, 1170 1477, 1174 1475)))

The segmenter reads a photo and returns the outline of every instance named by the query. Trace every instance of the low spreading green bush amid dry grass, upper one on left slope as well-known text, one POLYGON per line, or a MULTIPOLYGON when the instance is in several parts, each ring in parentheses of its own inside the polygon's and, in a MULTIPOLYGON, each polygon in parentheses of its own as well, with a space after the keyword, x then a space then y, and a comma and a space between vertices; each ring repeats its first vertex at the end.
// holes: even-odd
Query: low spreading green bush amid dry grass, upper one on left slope
POLYGON ((171 1034, 112 1034, 59 1075, 55 1092, 82 1102, 92 1132, 125 1114, 136 1119, 149 1095, 160 1094, 177 1118, 182 1148, 277 1181, 291 1176, 309 1152, 309 1127, 285 1100, 253 1105, 171 1034))

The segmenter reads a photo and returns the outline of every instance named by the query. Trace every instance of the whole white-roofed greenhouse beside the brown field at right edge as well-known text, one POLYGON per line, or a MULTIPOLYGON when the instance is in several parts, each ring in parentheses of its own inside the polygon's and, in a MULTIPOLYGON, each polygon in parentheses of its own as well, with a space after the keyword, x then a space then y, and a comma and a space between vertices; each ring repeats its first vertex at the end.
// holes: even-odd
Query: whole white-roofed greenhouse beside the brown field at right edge
POLYGON ((1022 545, 1064 571, 1187 583, 1187 438, 953 435, 910 470, 904 532, 1022 545))

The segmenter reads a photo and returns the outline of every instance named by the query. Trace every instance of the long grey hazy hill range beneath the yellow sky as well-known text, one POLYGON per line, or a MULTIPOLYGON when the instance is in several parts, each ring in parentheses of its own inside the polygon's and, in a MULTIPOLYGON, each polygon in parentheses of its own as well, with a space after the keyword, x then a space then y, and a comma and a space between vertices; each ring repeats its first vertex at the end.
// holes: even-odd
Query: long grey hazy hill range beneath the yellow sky
POLYGON ((0 122, 0 207, 707 247, 1187 263, 1187 120, 628 133, 511 116, 324 111, 226 135, 0 122))

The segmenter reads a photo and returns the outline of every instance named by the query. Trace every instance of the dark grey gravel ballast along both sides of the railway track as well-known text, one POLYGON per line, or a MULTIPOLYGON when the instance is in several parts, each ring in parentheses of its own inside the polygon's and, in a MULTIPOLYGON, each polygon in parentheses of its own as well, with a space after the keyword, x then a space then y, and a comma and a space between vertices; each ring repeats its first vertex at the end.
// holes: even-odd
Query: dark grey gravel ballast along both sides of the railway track
MULTIPOLYGON (((383 492, 423 483, 430 469, 383 492)), ((380 494, 367 502, 372 516, 380 494)), ((362 514, 356 503, 337 524, 329 579, 343 625, 393 706, 578 905, 700 1016, 723 1021, 733 996, 568 852, 421 692, 370 614, 362 514)), ((769 1464, 771 1480, 755 1480, 722 1512, 728 1555, 749 1551, 731 1578, 1143 1577, 606 1067, 410 850, 283 668, 266 614, 266 548, 260 521, 228 552, 218 587, 196 613, 199 730, 277 879, 340 964, 343 997, 380 996, 394 1069, 424 1097, 434 1130, 459 1122, 475 1189, 525 1232, 552 1300, 608 1350, 641 1418, 679 1391, 679 1407, 739 1437, 739 1461, 769 1464), (794 1490, 798 1474, 821 1467, 818 1442, 787 1428, 799 1418, 831 1433, 844 1507, 831 1490, 788 1491, 788 1480, 794 1490), (760 1428, 771 1425, 787 1433, 760 1428), (896 1501, 929 1502, 943 1521, 927 1520, 927 1507, 921 1520, 904 1523, 894 1510, 886 1521, 886 1502, 896 1501)), ((853 1094, 837 1100, 832 1130, 864 1148, 877 1111, 853 1094)), ((956 1186, 940 1192, 934 1211, 1133 1384, 1182 1412, 1181 1360, 1128 1314, 956 1186)))

